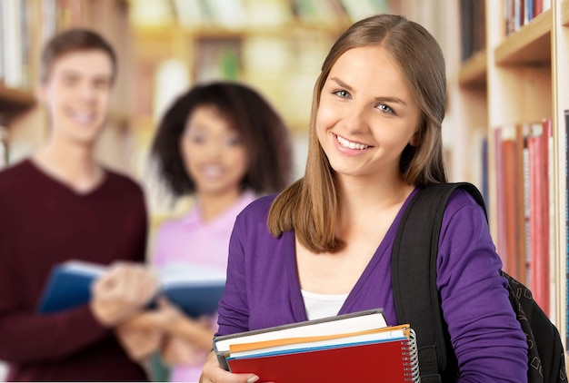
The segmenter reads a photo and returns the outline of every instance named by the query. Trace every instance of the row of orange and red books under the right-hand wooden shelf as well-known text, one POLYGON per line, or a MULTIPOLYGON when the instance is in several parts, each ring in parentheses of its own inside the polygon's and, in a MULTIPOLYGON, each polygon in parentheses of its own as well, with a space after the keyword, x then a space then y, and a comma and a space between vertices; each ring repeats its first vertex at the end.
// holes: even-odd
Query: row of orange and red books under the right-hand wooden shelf
POLYGON ((549 315, 554 251, 552 120, 504 125, 494 134, 498 253, 504 270, 524 282, 549 315))

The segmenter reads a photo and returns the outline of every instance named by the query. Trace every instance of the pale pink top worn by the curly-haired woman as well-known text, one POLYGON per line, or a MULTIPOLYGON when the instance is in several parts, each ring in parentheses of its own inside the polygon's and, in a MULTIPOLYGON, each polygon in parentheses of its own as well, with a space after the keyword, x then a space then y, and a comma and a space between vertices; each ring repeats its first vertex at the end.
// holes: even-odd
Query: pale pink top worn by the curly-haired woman
MULTIPOLYGON (((214 221, 202 221, 200 202, 183 218, 166 221, 156 234, 155 254, 152 263, 157 267, 169 263, 191 262, 225 272, 229 238, 235 217, 255 201, 253 191, 244 191, 235 204, 214 221)), ((215 325, 214 331, 217 330, 215 325)), ((175 366, 171 381, 197 382, 205 363, 205 352, 196 352, 191 366, 175 366)))

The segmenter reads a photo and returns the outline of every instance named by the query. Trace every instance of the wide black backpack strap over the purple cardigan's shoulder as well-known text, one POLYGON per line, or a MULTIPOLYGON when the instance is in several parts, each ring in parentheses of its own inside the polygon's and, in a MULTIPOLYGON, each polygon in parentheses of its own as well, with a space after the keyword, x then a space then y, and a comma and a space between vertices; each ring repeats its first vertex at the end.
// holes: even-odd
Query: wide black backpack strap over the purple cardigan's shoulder
POLYGON ((409 323, 417 335, 424 382, 454 381, 457 373, 436 288, 436 257, 444 209, 458 188, 470 192, 485 211, 484 198, 471 183, 430 185, 417 191, 409 202, 394 240, 391 272, 395 313, 398 322, 409 323))

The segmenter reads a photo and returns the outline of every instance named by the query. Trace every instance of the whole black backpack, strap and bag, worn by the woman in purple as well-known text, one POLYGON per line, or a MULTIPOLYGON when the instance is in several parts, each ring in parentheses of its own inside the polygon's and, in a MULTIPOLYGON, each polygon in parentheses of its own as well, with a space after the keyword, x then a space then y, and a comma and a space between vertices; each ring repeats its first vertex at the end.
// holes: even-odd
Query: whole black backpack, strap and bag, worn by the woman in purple
MULTIPOLYGON (((470 192, 480 206, 484 198, 467 182, 439 183, 418 191, 394 240, 392 286, 399 323, 409 323, 417 335, 422 383, 457 379, 457 362, 444 322, 436 288, 436 257, 444 208, 451 193, 470 192), (429 270, 429 272, 425 272, 429 270), (408 283, 413 280, 413 283, 408 283)), ((566 382, 564 348, 559 331, 522 283, 502 271, 509 282, 510 301, 528 342, 528 382, 566 382)))

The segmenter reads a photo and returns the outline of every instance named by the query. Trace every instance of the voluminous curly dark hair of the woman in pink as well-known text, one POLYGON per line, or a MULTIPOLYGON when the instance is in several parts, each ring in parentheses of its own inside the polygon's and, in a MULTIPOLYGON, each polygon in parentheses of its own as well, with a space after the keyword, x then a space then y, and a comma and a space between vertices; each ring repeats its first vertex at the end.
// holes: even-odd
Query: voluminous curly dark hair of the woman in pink
POLYGON ((189 117, 200 106, 215 107, 241 135, 249 161, 242 189, 264 194, 288 185, 292 147, 283 119, 254 89, 242 83, 215 82, 197 84, 179 96, 158 125, 150 155, 168 191, 176 198, 195 191, 195 182, 185 171, 180 140, 189 117))

